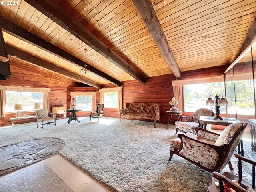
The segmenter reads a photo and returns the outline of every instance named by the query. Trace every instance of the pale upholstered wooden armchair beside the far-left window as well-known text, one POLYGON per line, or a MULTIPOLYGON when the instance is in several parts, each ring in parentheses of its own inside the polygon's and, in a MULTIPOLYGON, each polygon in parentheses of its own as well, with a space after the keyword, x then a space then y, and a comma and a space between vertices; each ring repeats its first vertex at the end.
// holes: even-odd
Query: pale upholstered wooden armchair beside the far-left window
POLYGON ((36 110, 36 117, 37 117, 37 127, 39 122, 41 122, 41 128, 43 128, 43 125, 48 125, 51 123, 54 123, 54 126, 56 126, 56 113, 48 113, 47 109, 38 109, 36 110), (53 114, 53 117, 49 117, 49 114, 53 114), (46 121, 47 123, 44 123, 46 121))

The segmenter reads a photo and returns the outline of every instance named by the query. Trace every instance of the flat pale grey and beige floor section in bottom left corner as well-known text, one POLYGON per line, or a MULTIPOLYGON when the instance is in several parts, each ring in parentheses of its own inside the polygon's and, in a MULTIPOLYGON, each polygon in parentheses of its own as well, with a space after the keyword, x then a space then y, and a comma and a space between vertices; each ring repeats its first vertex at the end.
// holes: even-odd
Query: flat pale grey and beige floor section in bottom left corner
POLYGON ((0 192, 110 192, 60 155, 0 177, 0 192))

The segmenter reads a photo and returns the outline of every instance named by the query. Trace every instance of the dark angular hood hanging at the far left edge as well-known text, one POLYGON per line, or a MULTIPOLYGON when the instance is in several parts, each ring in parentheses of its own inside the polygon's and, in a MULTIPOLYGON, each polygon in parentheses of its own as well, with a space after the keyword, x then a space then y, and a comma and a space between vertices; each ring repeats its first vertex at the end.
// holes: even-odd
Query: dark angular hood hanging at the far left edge
POLYGON ((5 42, 2 30, 0 29, 0 80, 7 80, 12 74, 8 62, 5 42))

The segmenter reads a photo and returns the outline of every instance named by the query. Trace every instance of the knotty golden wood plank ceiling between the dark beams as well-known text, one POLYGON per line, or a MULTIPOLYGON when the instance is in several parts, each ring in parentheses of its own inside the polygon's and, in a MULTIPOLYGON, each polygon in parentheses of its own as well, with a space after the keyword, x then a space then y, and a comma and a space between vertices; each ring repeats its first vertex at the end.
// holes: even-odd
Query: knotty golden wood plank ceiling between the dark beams
MULTIPOLYGON (((132 0, 55 0, 144 77, 172 73, 132 0)), ((231 64, 253 20, 255 0, 151 0, 181 71, 231 64)), ((24 0, 0 16, 118 81, 132 80, 98 52, 24 0)), ((4 33, 6 44, 78 75, 78 66, 4 33)), ((82 75, 100 84, 96 75, 82 75)))

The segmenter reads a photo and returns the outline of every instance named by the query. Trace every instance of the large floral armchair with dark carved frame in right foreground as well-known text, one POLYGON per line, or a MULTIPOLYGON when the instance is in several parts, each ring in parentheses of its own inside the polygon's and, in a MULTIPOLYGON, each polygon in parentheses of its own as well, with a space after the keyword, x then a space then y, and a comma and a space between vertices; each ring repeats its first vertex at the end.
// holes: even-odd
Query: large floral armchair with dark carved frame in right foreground
POLYGON ((202 128, 192 133, 178 134, 170 140, 170 158, 176 154, 209 172, 220 172, 227 164, 233 169, 230 159, 242 138, 248 123, 233 123, 221 134, 202 128))

